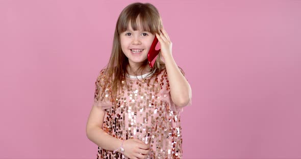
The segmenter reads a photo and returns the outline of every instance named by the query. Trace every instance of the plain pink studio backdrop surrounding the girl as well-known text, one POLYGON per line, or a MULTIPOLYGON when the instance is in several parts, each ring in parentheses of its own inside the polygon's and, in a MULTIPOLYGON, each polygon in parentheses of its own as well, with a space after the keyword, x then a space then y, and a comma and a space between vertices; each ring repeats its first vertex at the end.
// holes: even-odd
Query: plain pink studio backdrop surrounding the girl
MULTIPOLYGON (((94 82, 133 2, 0 1, 0 158, 96 158, 94 82)), ((183 158, 301 158, 301 1, 139 2, 192 87, 183 158)))

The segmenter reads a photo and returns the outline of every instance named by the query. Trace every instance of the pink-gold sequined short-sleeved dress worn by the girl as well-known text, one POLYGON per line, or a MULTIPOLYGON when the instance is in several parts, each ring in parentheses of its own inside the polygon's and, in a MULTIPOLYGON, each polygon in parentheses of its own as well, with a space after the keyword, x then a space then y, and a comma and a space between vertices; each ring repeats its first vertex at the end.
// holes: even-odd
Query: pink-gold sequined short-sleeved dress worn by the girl
MULTIPOLYGON (((150 76, 153 72, 144 74, 150 76)), ((143 75, 142 75, 143 76, 143 75)), ((148 158, 182 158, 182 128, 180 113, 183 108, 175 105, 170 96, 166 69, 157 77, 128 75, 122 81, 116 101, 109 102, 111 85, 103 88, 107 76, 102 70, 95 82, 94 105, 105 110, 103 130, 118 139, 140 139, 150 143, 148 158), (149 85, 147 82, 149 82, 149 85), (127 82, 129 89, 124 85, 127 82), (106 89, 107 98, 101 101, 101 89, 106 89)), ((188 105, 191 105, 191 99, 188 105)), ((97 158, 128 158, 121 153, 98 147, 97 158)))

